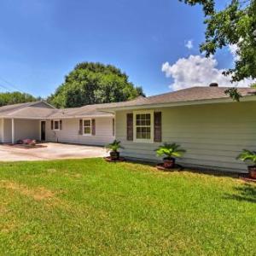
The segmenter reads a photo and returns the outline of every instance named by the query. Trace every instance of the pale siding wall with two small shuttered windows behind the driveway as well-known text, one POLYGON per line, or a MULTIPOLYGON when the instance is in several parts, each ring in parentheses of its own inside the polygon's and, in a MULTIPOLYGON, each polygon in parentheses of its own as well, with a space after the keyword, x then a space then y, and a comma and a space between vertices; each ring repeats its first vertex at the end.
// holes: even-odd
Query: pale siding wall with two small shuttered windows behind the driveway
POLYGON ((85 145, 105 145, 111 143, 113 137, 113 118, 96 119, 96 135, 79 135, 79 119, 62 119, 62 130, 52 131, 50 120, 46 121, 46 141, 59 143, 76 143, 85 145))

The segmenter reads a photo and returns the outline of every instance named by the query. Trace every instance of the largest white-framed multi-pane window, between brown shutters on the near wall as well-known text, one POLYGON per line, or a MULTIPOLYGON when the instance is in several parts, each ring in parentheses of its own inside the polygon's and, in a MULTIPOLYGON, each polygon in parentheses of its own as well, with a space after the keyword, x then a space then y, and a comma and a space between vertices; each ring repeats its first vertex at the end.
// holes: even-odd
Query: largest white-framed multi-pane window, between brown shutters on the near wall
POLYGON ((153 142, 153 113, 134 113, 134 134, 138 142, 153 142))

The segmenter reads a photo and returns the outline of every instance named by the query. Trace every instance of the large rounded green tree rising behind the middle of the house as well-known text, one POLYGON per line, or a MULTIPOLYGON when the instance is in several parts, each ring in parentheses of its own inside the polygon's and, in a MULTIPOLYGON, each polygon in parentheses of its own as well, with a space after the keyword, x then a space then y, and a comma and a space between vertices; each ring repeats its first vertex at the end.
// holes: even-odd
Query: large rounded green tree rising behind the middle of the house
POLYGON ((48 101, 57 108, 74 108, 88 104, 122 102, 143 96, 125 73, 112 65, 79 63, 48 101))

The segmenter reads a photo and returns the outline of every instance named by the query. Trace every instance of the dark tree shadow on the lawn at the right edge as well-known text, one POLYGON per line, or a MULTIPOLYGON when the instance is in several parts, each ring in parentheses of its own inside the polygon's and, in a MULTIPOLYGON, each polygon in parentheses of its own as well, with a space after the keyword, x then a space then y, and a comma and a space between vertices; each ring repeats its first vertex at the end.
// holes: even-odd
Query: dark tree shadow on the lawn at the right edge
POLYGON ((256 186, 245 183, 242 186, 236 188, 236 194, 226 194, 224 198, 256 203, 256 186))

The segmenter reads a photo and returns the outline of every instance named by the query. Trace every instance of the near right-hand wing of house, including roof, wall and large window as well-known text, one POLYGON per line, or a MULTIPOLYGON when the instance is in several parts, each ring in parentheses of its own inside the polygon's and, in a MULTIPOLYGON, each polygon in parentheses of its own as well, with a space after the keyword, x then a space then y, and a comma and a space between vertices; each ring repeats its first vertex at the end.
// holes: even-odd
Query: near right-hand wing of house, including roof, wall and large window
POLYGON ((234 102, 224 87, 193 87, 119 102, 100 110, 113 113, 116 139, 131 159, 160 161, 161 143, 178 143, 187 152, 183 166, 247 172, 236 160, 243 148, 256 149, 256 90, 239 88, 234 102))

